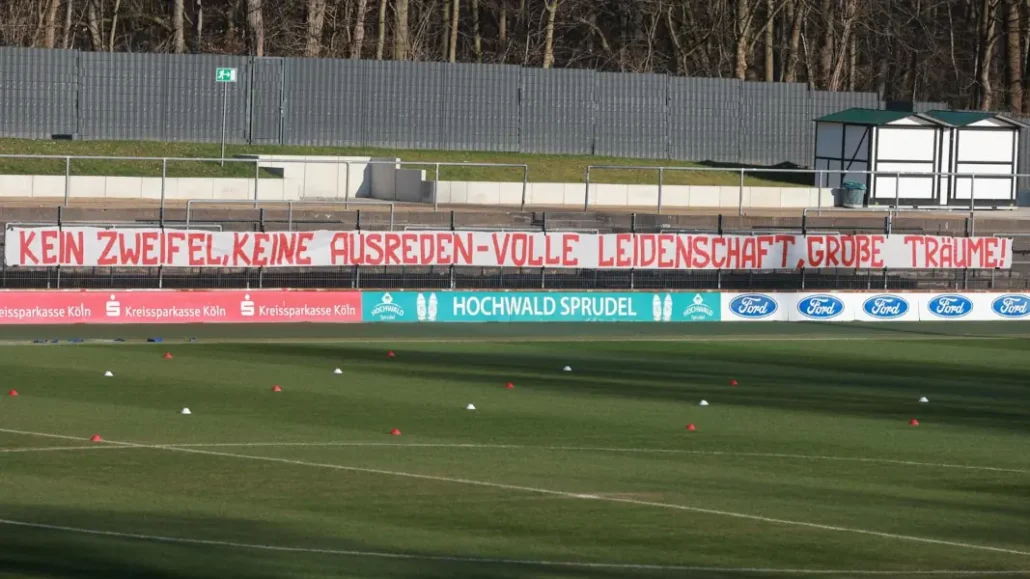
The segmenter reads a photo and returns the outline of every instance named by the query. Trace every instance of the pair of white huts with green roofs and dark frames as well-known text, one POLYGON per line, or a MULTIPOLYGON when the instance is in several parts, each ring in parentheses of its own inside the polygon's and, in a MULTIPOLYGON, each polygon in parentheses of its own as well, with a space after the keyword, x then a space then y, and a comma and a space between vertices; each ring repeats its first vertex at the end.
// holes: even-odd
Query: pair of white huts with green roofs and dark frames
POLYGON ((864 183, 870 205, 967 206, 970 195, 977 206, 1015 205, 1021 127, 993 112, 850 108, 816 120, 814 167, 832 171, 816 184, 864 183))

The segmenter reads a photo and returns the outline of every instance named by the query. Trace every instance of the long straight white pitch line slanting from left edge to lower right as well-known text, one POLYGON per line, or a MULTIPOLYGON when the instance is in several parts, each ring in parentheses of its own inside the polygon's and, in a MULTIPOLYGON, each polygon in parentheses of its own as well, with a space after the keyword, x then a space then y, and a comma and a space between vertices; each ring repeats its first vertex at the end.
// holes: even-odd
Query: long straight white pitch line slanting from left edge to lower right
MULTIPOLYGON (((72 436, 67 436, 67 435, 55 435, 55 434, 48 434, 48 433, 34 433, 34 432, 12 431, 12 430, 5 430, 5 429, 0 429, 0 432, 7 432, 7 433, 22 434, 22 435, 34 435, 34 436, 40 436, 40 437, 46 437, 46 438, 57 438, 57 439, 64 439, 64 440, 81 440, 81 438, 79 438, 79 437, 72 437, 72 436)), ((753 514, 748 514, 748 513, 739 513, 739 512, 733 512, 733 511, 720 511, 720 510, 717 510, 717 509, 706 509, 706 508, 702 508, 702 507, 689 507, 689 506, 686 506, 686 505, 676 505, 676 504, 672 504, 672 503, 657 503, 657 502, 652 502, 652 501, 639 501, 639 500, 636 500, 636 499, 618 499, 618 498, 614 498, 614 497, 598 497, 596 495, 569 492, 569 491, 564 491, 564 490, 553 490, 553 489, 549 489, 549 488, 538 488, 538 487, 534 487, 534 486, 520 486, 520 485, 515 485, 515 484, 504 484, 504 483, 500 483, 500 482, 487 482, 487 481, 472 480, 472 479, 467 479, 467 478, 452 478, 452 477, 443 477, 443 476, 434 476, 434 475, 423 475, 423 474, 416 474, 416 473, 406 473, 406 472, 401 472, 401 471, 388 471, 388 470, 384 470, 384 469, 370 469, 370 468, 366 468, 366 467, 347 467, 347 466, 343 466, 343 465, 331 465, 331 464, 323 464, 323 463, 310 463, 310 462, 306 462, 306 461, 295 461, 295 459, 290 459, 290 458, 278 458, 278 457, 274 457, 274 456, 254 456, 254 455, 250 455, 250 454, 236 454, 236 453, 233 453, 233 452, 219 452, 219 451, 214 451, 214 450, 201 450, 201 449, 198 449, 198 448, 183 448, 183 447, 178 447, 178 446, 156 446, 156 445, 151 445, 151 444, 137 444, 137 443, 133 443, 133 442, 121 442, 121 441, 106 441, 106 442, 108 444, 114 444, 114 445, 121 445, 121 446, 131 446, 131 447, 135 447, 135 448, 154 448, 154 449, 162 449, 162 450, 171 450, 171 451, 174 451, 174 452, 186 452, 186 453, 192 453, 192 454, 202 454, 202 455, 208 455, 208 456, 224 456, 224 457, 227 457, 227 458, 240 458, 240 459, 244 459, 244 461, 260 461, 260 462, 266 462, 266 463, 277 463, 277 464, 280 464, 280 465, 293 465, 293 466, 298 466, 298 467, 311 467, 311 468, 317 468, 317 469, 332 469, 332 470, 337 470, 337 471, 346 471, 346 472, 354 472, 354 473, 367 473, 367 474, 396 476, 396 477, 411 478, 411 479, 417 479, 417 480, 432 480, 432 481, 436 481, 436 482, 451 482, 451 483, 455 483, 455 484, 467 484, 467 485, 471 485, 471 486, 483 486, 483 487, 488 487, 488 488, 501 488, 501 489, 504 489, 504 490, 514 490, 514 491, 518 491, 518 492, 538 492, 538 493, 541 493, 541 495, 550 495, 550 496, 554 496, 554 497, 569 497, 569 498, 572 498, 572 499, 584 499, 584 500, 592 500, 592 501, 605 501, 605 502, 609 502, 609 503, 621 503, 621 504, 637 505, 637 506, 642 506, 642 507, 654 507, 654 508, 658 508, 658 509, 670 509, 670 510, 676 510, 676 511, 686 511, 686 512, 701 513, 701 514, 713 515, 713 516, 722 516, 722 517, 737 518, 737 519, 745 519, 745 520, 755 520, 755 521, 767 522, 767 523, 772 523, 772 524, 782 524, 782 525, 788 525, 788 526, 798 526, 798 527, 802 527, 802 529, 816 529, 816 530, 819 530, 819 531, 831 531, 831 532, 835 532, 835 533, 850 533, 850 534, 854 534, 854 535, 865 535, 865 536, 869 536, 869 537, 880 537, 880 538, 884 538, 884 539, 895 539, 895 540, 899 540, 899 541, 909 541, 909 542, 913 542, 913 543, 924 543, 924 544, 930 544, 930 545, 943 545, 943 546, 948 546, 948 547, 959 547, 959 548, 963 548, 963 549, 973 549, 973 550, 980 550, 980 551, 990 551, 990 552, 995 552, 995 553, 1005 553, 1005 554, 1009 554, 1009 555, 1020 555, 1020 556, 1028 556, 1028 557, 1030 557, 1030 551, 1020 551, 1020 550, 1017 550, 1017 549, 1006 549, 1006 548, 1002 548, 1002 547, 991 547, 991 546, 988 546, 988 545, 977 545, 977 544, 974 544, 974 543, 962 543, 962 542, 959 542, 959 541, 948 541, 948 540, 943 540, 943 539, 929 539, 929 538, 924 538, 924 537, 915 537, 915 536, 911 536, 911 535, 899 535, 899 534, 896 534, 896 533, 884 533, 884 532, 880 532, 880 531, 868 531, 868 530, 864 530, 864 529, 856 529, 856 527, 850 527, 850 526, 839 526, 839 525, 832 525, 832 524, 820 524, 820 523, 816 523, 816 522, 805 522, 805 521, 799 521, 799 520, 791 520, 791 519, 783 519, 783 518, 775 518, 775 517, 765 517, 765 516, 761 516, 761 515, 753 515, 753 514)))

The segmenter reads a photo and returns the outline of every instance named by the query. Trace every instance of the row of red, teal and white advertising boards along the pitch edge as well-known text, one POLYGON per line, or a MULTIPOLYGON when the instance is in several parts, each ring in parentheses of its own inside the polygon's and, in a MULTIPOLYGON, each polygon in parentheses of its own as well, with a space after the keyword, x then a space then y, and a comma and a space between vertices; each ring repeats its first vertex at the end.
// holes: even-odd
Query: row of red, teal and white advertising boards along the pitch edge
POLYGON ((0 326, 1005 319, 1030 319, 1030 294, 274 290, 0 292, 0 326))

